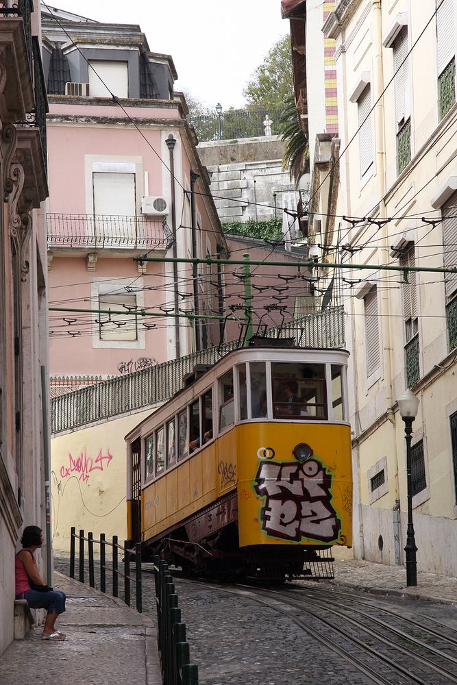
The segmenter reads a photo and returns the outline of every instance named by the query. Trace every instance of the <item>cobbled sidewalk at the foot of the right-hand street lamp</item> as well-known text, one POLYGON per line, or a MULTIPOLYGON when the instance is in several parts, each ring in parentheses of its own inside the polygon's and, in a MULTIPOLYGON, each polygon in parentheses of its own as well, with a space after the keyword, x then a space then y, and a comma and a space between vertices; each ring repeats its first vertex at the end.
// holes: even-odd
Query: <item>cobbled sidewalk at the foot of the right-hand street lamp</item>
POLYGON ((430 599, 457 606, 457 578, 417 572, 417 586, 406 587, 404 566, 384 566, 369 561, 337 560, 332 584, 371 593, 430 599))

